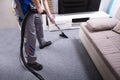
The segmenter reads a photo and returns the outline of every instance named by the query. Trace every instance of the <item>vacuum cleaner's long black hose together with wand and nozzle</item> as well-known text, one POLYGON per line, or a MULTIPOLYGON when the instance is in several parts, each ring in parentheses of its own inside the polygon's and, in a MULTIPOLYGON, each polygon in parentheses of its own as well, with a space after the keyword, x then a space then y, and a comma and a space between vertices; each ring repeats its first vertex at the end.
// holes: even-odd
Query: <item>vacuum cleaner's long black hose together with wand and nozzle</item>
MULTIPOLYGON (((20 57, 21 57, 21 60, 23 62, 23 65, 34 75, 36 76, 39 80, 45 80, 40 74, 38 74, 36 71, 34 71, 32 68, 30 68, 26 61, 25 61, 25 58, 24 58, 24 53, 23 53, 23 45, 24 45, 24 35, 25 35, 25 25, 26 25, 26 21, 28 19, 28 17, 31 15, 31 14, 35 14, 35 13, 38 13, 37 12, 37 9, 31 9, 28 11, 28 13, 25 15, 25 18, 23 19, 23 22, 22 22, 22 27, 21 27, 21 44, 20 44, 20 57)), ((42 14, 46 14, 47 13, 45 11, 43 11, 42 14)), ((47 15, 48 16, 48 15, 47 15)), ((49 17, 49 16, 48 16, 49 17)), ((50 18, 50 17, 49 17, 50 18)), ((61 34, 59 36, 61 37, 64 37, 64 38, 68 38, 64 32, 58 27, 58 25, 55 23, 55 26, 61 31, 61 34)))

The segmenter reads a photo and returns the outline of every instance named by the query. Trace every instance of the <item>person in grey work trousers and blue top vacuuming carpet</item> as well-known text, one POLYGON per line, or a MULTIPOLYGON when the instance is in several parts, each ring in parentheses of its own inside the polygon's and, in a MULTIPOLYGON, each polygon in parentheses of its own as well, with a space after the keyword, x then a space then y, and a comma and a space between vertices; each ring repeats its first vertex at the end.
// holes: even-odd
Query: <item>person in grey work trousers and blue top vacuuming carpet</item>
MULTIPOLYGON (((16 0, 16 1, 20 1, 21 11, 23 12, 23 15, 26 15, 28 10, 32 8, 37 9, 38 11, 38 13, 29 15, 26 21, 25 52, 27 54, 27 57, 26 57, 27 65, 34 70, 41 70, 43 67, 41 64, 37 62, 37 56, 35 54, 36 38, 39 42, 40 49, 43 49, 44 47, 47 47, 52 43, 51 41, 44 40, 43 26, 42 26, 42 20, 40 16, 42 15, 42 12, 43 12, 43 9, 41 7, 41 2, 39 0, 16 0), (28 4, 23 5, 24 2, 28 2, 28 4), (28 5, 30 6, 30 8, 28 5)), ((50 16, 50 21, 52 23, 55 23, 54 17, 49 10, 47 0, 43 0, 42 2, 45 8, 45 11, 50 16)), ((22 19, 19 16, 19 21, 21 20, 22 19)))

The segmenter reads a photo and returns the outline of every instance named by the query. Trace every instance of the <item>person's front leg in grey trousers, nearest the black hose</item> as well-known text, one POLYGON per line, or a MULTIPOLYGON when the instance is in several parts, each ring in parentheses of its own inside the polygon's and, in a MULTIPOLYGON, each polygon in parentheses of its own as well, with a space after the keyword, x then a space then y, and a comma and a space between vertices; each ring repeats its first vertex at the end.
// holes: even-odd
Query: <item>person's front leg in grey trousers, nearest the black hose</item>
POLYGON ((35 70, 41 70, 42 66, 36 62, 35 46, 36 46, 36 27, 35 27, 35 14, 29 16, 26 22, 26 41, 25 41, 25 51, 27 54, 27 64, 35 70))

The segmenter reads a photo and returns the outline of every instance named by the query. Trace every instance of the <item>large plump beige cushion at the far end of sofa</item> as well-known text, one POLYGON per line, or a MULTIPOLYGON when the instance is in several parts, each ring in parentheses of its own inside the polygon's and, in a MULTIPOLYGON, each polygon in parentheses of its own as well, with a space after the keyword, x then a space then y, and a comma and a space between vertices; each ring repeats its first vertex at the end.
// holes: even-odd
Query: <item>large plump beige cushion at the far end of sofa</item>
POLYGON ((94 18, 87 21, 87 28, 90 31, 101 31, 112 29, 119 22, 115 18, 94 18))

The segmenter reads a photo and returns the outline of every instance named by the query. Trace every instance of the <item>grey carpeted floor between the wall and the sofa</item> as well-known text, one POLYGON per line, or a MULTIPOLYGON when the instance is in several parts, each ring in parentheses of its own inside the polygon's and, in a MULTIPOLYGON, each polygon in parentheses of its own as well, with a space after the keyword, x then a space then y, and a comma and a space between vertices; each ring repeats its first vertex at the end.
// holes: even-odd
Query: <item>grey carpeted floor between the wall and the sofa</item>
MULTIPOLYGON (((45 80, 102 80, 79 39, 79 29, 64 33, 68 39, 59 37, 59 31, 44 31, 45 39, 52 41, 52 45, 39 49, 37 43, 37 61, 43 65, 38 73, 45 80)), ((0 36, 0 80, 36 80, 20 63, 19 29, 0 29, 0 36)))

